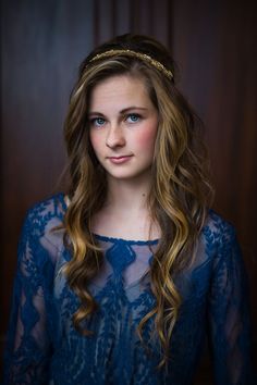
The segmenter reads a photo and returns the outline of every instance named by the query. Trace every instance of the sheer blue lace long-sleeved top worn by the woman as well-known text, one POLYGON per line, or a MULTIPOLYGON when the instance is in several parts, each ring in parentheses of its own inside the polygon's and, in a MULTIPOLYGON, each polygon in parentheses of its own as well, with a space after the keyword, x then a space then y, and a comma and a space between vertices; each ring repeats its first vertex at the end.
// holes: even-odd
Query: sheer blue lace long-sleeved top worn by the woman
MULTIPOLYGON (((96 235, 105 264, 89 289, 99 310, 86 322, 93 336, 73 327, 78 307, 61 266, 71 254, 63 231, 52 231, 66 210, 57 195, 27 213, 19 246, 4 384, 184 385, 192 384, 207 331, 218 385, 252 384, 245 273, 234 229, 212 211, 195 262, 175 276, 183 305, 173 332, 170 362, 157 370, 152 319, 136 333, 155 305, 149 269, 158 240, 96 235)), ((254 383, 254 382, 253 382, 254 383)))

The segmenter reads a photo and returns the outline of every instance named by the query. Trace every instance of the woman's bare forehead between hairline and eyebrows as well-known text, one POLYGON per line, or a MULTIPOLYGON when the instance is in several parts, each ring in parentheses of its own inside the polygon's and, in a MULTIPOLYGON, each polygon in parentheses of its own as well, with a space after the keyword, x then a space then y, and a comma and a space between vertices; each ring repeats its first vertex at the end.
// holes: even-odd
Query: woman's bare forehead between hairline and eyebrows
POLYGON ((119 75, 99 82, 90 92, 89 110, 108 108, 113 103, 151 104, 145 80, 132 75, 119 75))

